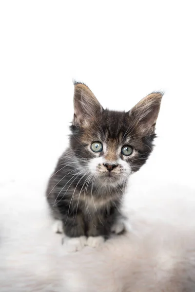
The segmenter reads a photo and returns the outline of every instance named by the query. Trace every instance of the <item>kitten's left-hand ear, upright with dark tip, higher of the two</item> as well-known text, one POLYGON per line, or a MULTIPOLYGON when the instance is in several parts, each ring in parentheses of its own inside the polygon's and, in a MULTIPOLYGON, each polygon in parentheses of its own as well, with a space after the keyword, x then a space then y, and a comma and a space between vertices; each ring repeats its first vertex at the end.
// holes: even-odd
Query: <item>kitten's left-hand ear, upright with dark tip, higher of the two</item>
POLYGON ((93 92, 82 83, 74 82, 74 125, 86 124, 93 119, 103 108, 93 92))

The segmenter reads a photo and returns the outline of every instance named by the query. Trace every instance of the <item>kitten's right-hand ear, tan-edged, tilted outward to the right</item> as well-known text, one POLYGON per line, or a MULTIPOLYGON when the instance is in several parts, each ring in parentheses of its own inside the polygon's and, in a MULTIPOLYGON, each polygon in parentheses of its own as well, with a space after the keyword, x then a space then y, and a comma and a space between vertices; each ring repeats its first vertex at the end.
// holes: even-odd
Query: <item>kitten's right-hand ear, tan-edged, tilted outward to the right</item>
POLYGON ((137 125, 139 131, 154 132, 162 96, 162 92, 153 92, 141 99, 129 111, 129 115, 135 120, 133 123, 137 125))

